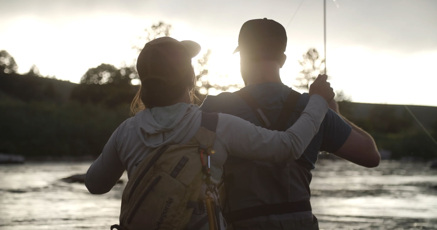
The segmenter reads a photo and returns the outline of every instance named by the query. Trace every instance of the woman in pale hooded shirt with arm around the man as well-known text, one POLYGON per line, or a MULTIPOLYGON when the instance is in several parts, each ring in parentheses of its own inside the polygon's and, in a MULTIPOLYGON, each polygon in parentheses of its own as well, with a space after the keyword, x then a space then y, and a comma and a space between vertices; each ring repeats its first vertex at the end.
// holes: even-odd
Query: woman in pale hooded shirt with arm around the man
MULTIPOLYGON (((170 37, 157 38, 144 46, 136 65, 141 87, 131 106, 135 116, 114 131, 88 169, 85 185, 89 192, 109 192, 125 170, 130 178, 136 165, 154 150, 164 145, 185 144, 198 132, 204 113, 191 103, 190 90, 195 77, 191 58, 199 51, 200 46, 194 41, 177 41, 170 37)), ((317 133, 334 93, 326 77, 319 77, 311 85, 310 95, 302 116, 284 132, 257 127, 229 114, 215 113, 212 183, 217 185, 220 181, 222 165, 230 154, 271 162, 299 158, 317 133), (270 151, 272 148, 274 151, 270 151)), ((205 191, 200 194, 202 196, 205 191)), ((200 220, 205 220, 205 215, 205 212, 193 212, 187 228, 207 229, 208 223, 199 224, 200 220)), ((220 220, 223 230, 226 224, 222 218, 220 220)))

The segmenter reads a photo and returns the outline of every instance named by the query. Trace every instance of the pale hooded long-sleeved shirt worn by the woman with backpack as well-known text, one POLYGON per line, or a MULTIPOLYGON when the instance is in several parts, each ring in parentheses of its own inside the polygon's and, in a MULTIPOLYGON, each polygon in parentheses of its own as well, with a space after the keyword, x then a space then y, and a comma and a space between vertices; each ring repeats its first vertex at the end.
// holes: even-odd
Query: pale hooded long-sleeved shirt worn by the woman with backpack
MULTIPOLYGON (((201 124, 201 111, 195 105, 187 105, 187 107, 189 110, 182 111, 185 116, 181 116, 182 120, 177 127, 165 132, 173 134, 165 136, 169 138, 164 140, 167 141, 166 144, 183 144, 198 131, 201 124)), ((162 114, 159 117, 168 117, 169 114, 174 113, 173 111, 169 113, 168 108, 165 107, 160 110, 162 114)), ((220 180, 222 166, 228 154, 271 162, 296 160, 316 135, 327 110, 326 100, 319 95, 312 95, 302 115, 285 132, 267 130, 239 117, 219 113, 214 144, 217 154, 213 154, 211 158, 214 182, 218 183, 220 180)), ((138 115, 141 115, 140 113, 138 115)), ((132 174, 135 163, 144 159, 157 147, 146 146, 143 140, 144 137, 135 131, 133 117, 123 122, 109 138, 101 155, 88 169, 85 177, 88 190, 94 194, 108 192, 124 170, 128 170, 128 175, 132 174)))

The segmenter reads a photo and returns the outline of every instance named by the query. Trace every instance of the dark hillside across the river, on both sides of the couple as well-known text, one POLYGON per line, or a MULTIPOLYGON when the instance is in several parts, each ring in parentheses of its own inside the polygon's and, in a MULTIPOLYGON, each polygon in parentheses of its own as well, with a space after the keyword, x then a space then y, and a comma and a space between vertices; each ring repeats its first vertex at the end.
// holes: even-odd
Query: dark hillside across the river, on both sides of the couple
MULTIPOLYGON (((0 72, 0 152, 24 156, 97 156, 130 117, 138 86, 76 84, 0 72)), ((409 106, 436 138, 437 107, 409 106)), ((340 102, 340 112, 375 137, 392 158, 430 159, 434 143, 402 105, 340 102)))

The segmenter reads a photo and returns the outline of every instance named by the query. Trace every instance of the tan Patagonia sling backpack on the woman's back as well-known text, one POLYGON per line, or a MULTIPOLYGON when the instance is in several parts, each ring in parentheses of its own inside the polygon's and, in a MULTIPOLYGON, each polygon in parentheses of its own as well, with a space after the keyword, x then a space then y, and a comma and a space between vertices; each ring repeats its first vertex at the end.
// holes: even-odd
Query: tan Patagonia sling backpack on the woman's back
MULTIPOLYGON (((118 230, 183 230, 208 179, 206 159, 215 141, 217 113, 203 113, 185 144, 161 146, 139 162, 123 191, 118 230)), ((209 180, 210 180, 209 174, 209 180)))

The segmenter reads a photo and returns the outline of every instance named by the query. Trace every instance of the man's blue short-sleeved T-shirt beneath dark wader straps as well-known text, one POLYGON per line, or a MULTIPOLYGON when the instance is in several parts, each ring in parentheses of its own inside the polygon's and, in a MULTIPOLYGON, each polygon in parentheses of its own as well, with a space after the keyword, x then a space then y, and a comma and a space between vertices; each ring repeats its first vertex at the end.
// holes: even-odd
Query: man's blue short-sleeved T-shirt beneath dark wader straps
MULTIPOLYGON (((249 91, 250 95, 252 95, 263 108, 271 124, 275 124, 282 106, 288 97, 288 93, 290 93, 292 89, 282 83, 268 82, 249 85, 240 90, 249 91)), ((291 127, 295 123, 305 109, 308 101, 308 93, 303 93, 299 97, 295 110, 290 120, 288 120, 287 127, 291 127)), ((231 114, 248 120, 257 126, 261 126, 250 107, 235 93, 220 93, 217 96, 207 96, 200 108, 207 113, 231 114)), ((350 125, 337 113, 329 109, 319 128, 319 132, 312 139, 302 154, 302 157, 298 159, 298 162, 306 168, 314 169, 319 151, 329 153, 336 152, 347 140, 350 131, 350 125)))

